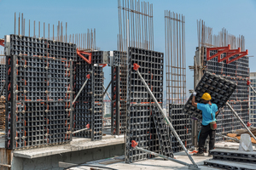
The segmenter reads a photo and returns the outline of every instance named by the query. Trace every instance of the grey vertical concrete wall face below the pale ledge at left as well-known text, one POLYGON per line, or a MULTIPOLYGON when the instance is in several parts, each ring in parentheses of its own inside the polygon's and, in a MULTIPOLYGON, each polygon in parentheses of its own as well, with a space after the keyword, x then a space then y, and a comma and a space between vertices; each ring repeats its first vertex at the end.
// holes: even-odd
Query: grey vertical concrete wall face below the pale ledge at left
POLYGON ((123 155, 125 155, 125 144, 116 144, 89 150, 79 150, 35 159, 26 159, 14 156, 12 161, 12 170, 61 170, 63 168, 59 167, 59 161, 80 164, 88 161, 96 161, 108 157, 123 155))

